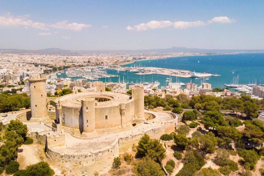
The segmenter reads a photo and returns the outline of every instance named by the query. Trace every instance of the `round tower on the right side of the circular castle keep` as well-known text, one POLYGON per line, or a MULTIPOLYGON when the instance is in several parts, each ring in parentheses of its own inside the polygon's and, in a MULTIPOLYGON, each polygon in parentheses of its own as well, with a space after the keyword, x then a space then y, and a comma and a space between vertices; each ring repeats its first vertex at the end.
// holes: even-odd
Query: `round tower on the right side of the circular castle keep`
POLYGON ((144 88, 132 88, 132 98, 134 99, 134 115, 137 119, 144 119, 144 88))

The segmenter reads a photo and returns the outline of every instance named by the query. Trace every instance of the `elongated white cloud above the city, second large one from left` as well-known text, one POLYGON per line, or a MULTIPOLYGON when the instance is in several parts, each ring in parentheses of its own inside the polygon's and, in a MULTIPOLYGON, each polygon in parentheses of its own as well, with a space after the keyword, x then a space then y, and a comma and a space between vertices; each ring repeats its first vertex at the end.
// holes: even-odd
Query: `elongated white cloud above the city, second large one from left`
POLYGON ((73 31, 81 31, 82 28, 89 28, 91 25, 89 24, 78 24, 78 23, 70 23, 67 24, 67 20, 57 22, 56 24, 51 24, 50 27, 52 28, 58 28, 58 29, 70 29, 73 31))

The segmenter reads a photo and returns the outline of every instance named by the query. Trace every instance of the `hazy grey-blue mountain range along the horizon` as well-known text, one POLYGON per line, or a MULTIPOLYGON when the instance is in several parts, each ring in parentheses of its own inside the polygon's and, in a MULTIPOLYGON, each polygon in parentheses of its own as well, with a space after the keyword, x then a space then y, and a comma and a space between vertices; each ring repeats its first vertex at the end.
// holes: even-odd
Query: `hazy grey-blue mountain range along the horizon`
POLYGON ((264 50, 219 50, 219 49, 199 49, 186 47, 172 47, 165 49, 149 50, 63 50, 60 48, 47 48, 42 50, 19 50, 19 49, 0 49, 0 53, 18 53, 18 54, 91 54, 91 53, 262 53, 264 50))

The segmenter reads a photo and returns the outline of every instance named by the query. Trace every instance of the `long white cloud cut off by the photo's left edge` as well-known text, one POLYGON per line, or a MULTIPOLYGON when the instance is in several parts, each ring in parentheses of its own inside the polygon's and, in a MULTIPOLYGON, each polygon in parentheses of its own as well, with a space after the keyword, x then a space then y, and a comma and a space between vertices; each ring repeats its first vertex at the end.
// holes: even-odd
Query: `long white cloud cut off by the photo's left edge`
POLYGON ((41 30, 49 30, 44 23, 33 22, 27 18, 28 15, 14 17, 11 16, 10 13, 6 13, 4 16, 0 16, 0 26, 24 26, 26 28, 33 27, 41 30))

